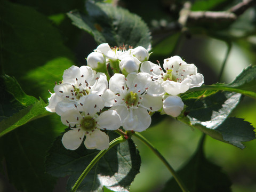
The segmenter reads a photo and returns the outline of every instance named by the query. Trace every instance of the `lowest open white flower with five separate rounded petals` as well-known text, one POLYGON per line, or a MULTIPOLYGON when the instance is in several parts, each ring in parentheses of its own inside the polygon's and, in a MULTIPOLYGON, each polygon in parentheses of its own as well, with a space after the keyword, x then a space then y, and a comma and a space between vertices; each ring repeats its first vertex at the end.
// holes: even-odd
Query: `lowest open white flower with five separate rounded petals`
POLYGON ((83 142, 87 149, 108 149, 109 137, 100 130, 116 130, 121 126, 121 119, 115 110, 107 110, 98 115, 104 107, 99 95, 90 94, 83 97, 79 107, 73 107, 61 114, 61 122, 71 128, 63 134, 63 146, 70 150, 77 149, 83 142))

